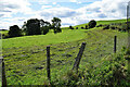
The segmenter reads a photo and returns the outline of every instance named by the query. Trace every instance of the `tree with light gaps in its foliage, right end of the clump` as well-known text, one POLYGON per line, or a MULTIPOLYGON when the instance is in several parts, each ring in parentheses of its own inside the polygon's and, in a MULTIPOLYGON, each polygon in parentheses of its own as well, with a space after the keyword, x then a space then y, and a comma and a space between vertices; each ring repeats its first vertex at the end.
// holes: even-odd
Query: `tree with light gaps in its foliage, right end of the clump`
POLYGON ((61 29, 61 20, 58 17, 53 17, 52 27, 54 29, 54 33, 62 32, 62 29, 61 29))

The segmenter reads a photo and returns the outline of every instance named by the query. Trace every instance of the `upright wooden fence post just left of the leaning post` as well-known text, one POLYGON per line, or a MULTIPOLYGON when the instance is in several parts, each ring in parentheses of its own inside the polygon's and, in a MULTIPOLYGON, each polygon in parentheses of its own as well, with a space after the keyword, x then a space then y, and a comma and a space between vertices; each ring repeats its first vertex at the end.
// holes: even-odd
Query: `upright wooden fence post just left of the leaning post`
POLYGON ((47 74, 48 74, 48 79, 51 80, 51 73, 50 73, 50 46, 47 47, 47 74))

